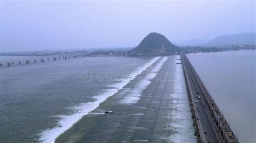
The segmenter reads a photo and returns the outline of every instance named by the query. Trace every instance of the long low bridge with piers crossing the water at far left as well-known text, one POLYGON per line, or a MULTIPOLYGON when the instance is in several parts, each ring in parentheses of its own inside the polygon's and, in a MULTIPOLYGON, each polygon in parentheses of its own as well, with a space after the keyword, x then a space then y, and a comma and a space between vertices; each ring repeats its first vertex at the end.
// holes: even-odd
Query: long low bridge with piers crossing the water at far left
POLYGON ((31 58, 31 59, 16 59, 16 60, 0 61, 0 67, 5 67, 5 66, 10 67, 14 65, 22 65, 22 64, 37 63, 37 62, 76 59, 76 58, 85 57, 87 55, 90 55, 90 53, 38 56, 38 58, 31 58))

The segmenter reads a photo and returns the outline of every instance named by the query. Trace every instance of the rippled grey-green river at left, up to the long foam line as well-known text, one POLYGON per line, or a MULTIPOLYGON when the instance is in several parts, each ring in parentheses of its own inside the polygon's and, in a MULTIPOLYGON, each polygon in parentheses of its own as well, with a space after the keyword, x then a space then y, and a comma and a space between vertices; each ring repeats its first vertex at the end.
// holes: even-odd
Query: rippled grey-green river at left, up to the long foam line
POLYGON ((116 87, 110 85, 123 84, 118 79, 129 78, 117 76, 106 80, 106 71, 113 75, 118 75, 117 72, 136 74, 154 60, 81 58, 1 68, 0 140, 35 142, 47 130, 63 124, 72 125, 80 116, 96 108, 103 101, 100 98, 105 99, 116 92, 116 87), (86 73, 92 74, 90 80, 85 80, 86 73))

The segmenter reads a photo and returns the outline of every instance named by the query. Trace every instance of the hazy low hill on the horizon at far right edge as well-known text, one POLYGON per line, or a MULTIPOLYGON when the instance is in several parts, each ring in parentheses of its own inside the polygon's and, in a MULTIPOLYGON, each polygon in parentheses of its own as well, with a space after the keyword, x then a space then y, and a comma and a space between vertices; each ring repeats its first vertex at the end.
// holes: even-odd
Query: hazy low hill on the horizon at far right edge
POLYGON ((221 35, 207 42, 207 45, 255 44, 255 42, 255 32, 251 32, 232 35, 221 35))

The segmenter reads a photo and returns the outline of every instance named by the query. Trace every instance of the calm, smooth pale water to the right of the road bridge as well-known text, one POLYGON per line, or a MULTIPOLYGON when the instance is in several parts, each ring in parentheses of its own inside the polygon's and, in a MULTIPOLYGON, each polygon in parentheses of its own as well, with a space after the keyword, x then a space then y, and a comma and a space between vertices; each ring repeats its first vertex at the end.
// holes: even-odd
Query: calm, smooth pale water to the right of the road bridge
POLYGON ((240 142, 255 140, 256 51, 188 54, 240 142))

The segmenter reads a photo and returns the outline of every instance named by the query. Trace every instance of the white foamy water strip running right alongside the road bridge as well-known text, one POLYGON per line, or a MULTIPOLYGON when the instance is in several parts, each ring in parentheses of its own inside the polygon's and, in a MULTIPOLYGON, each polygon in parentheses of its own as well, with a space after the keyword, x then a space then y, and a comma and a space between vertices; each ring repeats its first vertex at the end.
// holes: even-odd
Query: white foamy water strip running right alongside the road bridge
POLYGON ((182 67, 181 65, 174 66, 175 71, 172 72, 174 85, 170 94, 173 98, 170 107, 174 110, 171 110, 169 118, 172 119, 170 126, 177 133, 172 134, 167 140, 172 142, 196 142, 182 67))

